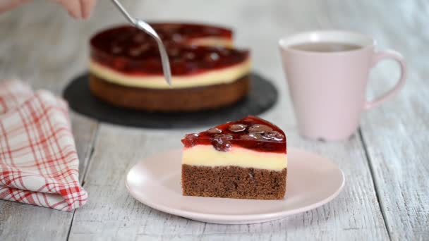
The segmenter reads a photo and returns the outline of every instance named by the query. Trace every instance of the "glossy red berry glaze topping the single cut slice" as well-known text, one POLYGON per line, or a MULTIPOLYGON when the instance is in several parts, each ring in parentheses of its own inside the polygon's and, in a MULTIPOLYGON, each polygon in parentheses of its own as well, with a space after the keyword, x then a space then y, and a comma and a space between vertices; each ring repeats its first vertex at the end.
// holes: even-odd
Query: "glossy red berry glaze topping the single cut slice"
POLYGON ((198 134, 188 134, 181 142, 185 147, 212 144, 221 152, 227 152, 231 147, 238 146, 257 152, 286 153, 284 132, 277 125, 256 116, 247 116, 198 134))

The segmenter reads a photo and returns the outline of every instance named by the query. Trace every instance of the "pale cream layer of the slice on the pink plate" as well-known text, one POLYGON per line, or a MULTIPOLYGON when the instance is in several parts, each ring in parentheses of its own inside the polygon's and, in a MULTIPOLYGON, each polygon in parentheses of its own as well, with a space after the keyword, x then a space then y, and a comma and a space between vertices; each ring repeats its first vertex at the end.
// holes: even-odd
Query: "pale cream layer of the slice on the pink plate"
POLYGON ((282 171, 287 167, 287 157, 282 153, 255 152, 242 147, 232 147, 228 152, 219 152, 212 145, 199 144, 183 149, 182 164, 282 171))

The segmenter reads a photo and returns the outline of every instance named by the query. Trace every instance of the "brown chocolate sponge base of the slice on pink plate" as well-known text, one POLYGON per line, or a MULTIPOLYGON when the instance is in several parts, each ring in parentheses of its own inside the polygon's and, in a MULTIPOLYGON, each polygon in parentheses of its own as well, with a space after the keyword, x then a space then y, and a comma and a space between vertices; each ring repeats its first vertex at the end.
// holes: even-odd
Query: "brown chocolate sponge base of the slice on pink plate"
POLYGON ((270 171, 182 165, 182 190, 186 196, 282 199, 286 192, 286 168, 270 171))

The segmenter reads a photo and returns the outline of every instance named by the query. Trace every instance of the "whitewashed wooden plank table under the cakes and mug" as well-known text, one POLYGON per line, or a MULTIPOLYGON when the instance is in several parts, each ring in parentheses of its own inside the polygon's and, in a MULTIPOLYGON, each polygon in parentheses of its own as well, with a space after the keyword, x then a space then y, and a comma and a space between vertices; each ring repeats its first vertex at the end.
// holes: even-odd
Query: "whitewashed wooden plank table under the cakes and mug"
MULTIPOLYGON (((124 186, 140 159, 181 147, 197 130, 147 130, 99 123, 72 113, 80 180, 89 202, 73 212, 0 201, 0 240, 429 240, 428 1, 124 1, 152 20, 200 20, 234 27, 236 45, 252 50, 254 68, 272 79, 279 103, 262 114, 286 130, 288 144, 332 159, 346 187, 329 204, 282 221, 215 225, 140 204, 124 186), (297 133, 277 39, 292 32, 346 29, 373 35, 409 64, 399 96, 363 115, 351 140, 313 142, 297 133)), ((0 16, 0 78, 21 78, 61 94, 87 66, 87 39, 123 22, 100 0, 89 21, 73 21, 35 1, 0 16)), ((381 63, 368 98, 394 84, 399 70, 381 63)))

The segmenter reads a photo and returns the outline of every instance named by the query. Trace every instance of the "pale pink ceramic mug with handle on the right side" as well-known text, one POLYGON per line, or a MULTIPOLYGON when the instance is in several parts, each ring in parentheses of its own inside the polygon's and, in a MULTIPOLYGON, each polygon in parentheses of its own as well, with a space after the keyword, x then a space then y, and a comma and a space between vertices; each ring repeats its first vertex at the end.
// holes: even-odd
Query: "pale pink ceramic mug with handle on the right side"
POLYGON ((375 51, 372 37, 355 32, 303 32, 280 39, 279 46, 298 129, 313 140, 348 139, 356 132, 361 113, 392 98, 406 80, 401 54, 375 51), (335 44, 353 48, 324 49, 335 44), (317 45, 321 49, 314 49, 317 45), (399 63, 401 77, 382 97, 367 101, 370 69, 384 58, 399 63))

